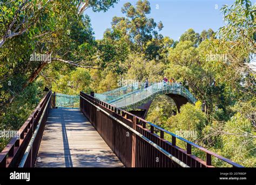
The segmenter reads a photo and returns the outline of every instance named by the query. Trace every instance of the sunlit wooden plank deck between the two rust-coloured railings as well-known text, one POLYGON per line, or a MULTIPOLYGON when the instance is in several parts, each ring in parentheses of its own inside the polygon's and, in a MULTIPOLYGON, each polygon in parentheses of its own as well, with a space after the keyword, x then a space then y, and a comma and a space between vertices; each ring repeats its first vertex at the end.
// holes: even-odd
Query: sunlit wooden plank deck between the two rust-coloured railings
POLYGON ((51 109, 35 167, 123 167, 78 109, 51 109))

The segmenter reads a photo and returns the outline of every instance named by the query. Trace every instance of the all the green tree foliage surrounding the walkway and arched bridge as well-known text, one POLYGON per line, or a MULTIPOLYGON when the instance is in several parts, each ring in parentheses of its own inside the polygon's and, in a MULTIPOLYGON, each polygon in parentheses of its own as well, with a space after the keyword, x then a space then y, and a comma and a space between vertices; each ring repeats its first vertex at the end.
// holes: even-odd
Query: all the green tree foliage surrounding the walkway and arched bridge
MULTIPOLYGON (((196 137, 186 139, 241 165, 256 166, 256 83, 247 66, 255 53, 255 4, 237 0, 224 5, 226 25, 217 33, 188 29, 174 41, 158 33, 164 26, 149 16, 147 0, 125 3, 125 17, 114 16, 100 40, 93 37, 90 17, 78 15, 80 1, 22 2, 1 3, 0 130, 17 130, 44 87, 70 95, 103 93, 117 88, 121 78, 151 83, 167 76, 181 82, 198 102, 177 113, 172 99, 160 95, 146 119, 174 133, 196 131, 196 137), (10 37, 13 33, 19 34, 10 37), (30 61, 32 53, 50 53, 55 60, 30 61)), ((106 11, 117 2, 90 0, 86 9, 106 11)), ((0 150, 7 142, 0 140, 0 150)), ((180 141, 177 145, 186 148, 180 141)), ((192 153, 205 159, 198 150, 192 153)), ((213 164, 225 166, 216 160, 213 164)))

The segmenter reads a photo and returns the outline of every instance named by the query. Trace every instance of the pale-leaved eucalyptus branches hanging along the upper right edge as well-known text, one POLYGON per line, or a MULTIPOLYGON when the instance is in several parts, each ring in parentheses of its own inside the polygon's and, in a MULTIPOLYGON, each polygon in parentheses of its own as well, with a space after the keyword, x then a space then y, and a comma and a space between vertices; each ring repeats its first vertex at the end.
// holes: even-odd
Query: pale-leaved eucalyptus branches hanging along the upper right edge
POLYGON ((237 0, 231 6, 224 5, 221 11, 226 25, 218 33, 222 44, 227 46, 229 68, 235 71, 233 80, 238 81, 242 76, 242 91, 251 96, 255 96, 256 83, 255 72, 248 63, 255 54, 255 10, 256 5, 248 0, 237 0))

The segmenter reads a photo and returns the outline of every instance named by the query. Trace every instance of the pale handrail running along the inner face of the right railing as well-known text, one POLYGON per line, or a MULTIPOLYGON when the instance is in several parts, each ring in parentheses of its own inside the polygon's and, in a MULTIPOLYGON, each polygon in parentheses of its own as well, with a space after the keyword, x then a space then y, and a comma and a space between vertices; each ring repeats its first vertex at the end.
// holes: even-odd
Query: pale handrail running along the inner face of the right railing
MULTIPOLYGON (((80 95, 79 95, 80 96, 80 95)), ((82 96, 80 96, 82 97, 82 96)), ((84 97, 82 97, 83 99, 85 99, 84 97)), ((100 108, 99 106, 91 103, 90 101, 88 101, 87 99, 85 99, 87 102, 89 102, 90 104, 92 104, 93 106, 95 106, 98 110, 104 112, 107 116, 111 117, 112 119, 116 120, 118 123, 120 123, 121 125, 125 126, 127 129, 129 129, 130 131, 132 131, 134 134, 136 134, 137 136, 139 136, 140 138, 144 139, 145 141, 147 141, 147 143, 149 143, 150 145, 152 145, 153 147, 157 148, 157 150, 159 150, 160 152, 164 153, 167 157, 169 157, 171 160, 173 160, 174 162, 178 163, 181 167, 185 167, 185 168, 190 168, 190 166, 187 166, 184 162, 182 162, 181 160, 177 159, 175 156, 173 156, 172 154, 170 154, 169 152, 167 152, 166 150, 164 150, 163 148, 161 148, 159 145, 157 145, 156 143, 153 143, 153 141, 151 141, 150 139, 147 139, 145 136, 143 136, 143 134, 137 132, 136 130, 132 129, 132 127, 126 125, 125 123, 121 122, 119 119, 113 117, 112 115, 110 115, 110 113, 107 113, 105 110, 103 110, 102 108, 100 108)))

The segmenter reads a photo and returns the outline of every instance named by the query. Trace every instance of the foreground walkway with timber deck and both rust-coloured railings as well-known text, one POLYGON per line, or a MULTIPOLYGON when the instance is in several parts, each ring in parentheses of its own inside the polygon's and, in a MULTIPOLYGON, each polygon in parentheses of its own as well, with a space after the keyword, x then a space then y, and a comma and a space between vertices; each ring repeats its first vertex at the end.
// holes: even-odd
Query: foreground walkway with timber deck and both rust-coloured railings
POLYGON ((55 103, 49 91, 0 153, 0 167, 214 167, 215 159, 242 167, 83 92, 79 109, 52 109, 55 103))

